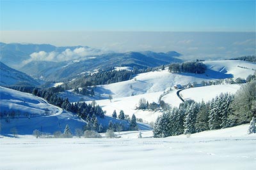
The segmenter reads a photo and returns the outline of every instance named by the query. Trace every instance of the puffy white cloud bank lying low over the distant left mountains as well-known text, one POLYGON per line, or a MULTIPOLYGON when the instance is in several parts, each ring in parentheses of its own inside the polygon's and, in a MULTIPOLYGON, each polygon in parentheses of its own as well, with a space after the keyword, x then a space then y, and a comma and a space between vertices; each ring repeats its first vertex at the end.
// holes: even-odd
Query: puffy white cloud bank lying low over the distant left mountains
POLYGON ((66 60, 84 60, 88 59, 88 56, 92 55, 100 55, 102 53, 106 53, 105 50, 98 50, 95 48, 88 48, 88 47, 79 47, 74 50, 70 50, 70 48, 67 48, 63 52, 34 52, 31 53, 30 59, 25 60, 23 64, 27 64, 28 62, 31 62, 33 60, 45 60, 45 61, 66 61, 66 60))

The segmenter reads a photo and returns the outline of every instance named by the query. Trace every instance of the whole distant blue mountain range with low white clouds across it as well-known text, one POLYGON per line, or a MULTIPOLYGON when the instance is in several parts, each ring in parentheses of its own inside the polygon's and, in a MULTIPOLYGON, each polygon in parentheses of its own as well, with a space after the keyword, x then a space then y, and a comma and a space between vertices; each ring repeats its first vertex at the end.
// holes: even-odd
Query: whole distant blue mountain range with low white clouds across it
POLYGON ((45 81, 62 81, 95 69, 130 66, 145 69, 182 62, 177 52, 106 52, 88 46, 0 43, 0 60, 29 76, 45 81), (33 55, 31 55, 33 53, 33 55), (60 60, 62 59, 63 60, 60 60), (22 66, 22 63, 24 66, 22 66))

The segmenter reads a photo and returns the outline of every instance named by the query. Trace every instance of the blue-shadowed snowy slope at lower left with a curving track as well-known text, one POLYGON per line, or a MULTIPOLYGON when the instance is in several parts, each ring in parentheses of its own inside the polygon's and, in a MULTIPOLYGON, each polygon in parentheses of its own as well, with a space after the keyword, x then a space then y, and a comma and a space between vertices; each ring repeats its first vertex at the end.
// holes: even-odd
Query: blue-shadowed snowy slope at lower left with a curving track
POLYGON ((84 125, 76 115, 32 94, 0 87, 0 99, 1 134, 10 134, 13 127, 19 134, 32 134, 35 129, 48 133, 63 132, 67 124, 74 132, 84 125))

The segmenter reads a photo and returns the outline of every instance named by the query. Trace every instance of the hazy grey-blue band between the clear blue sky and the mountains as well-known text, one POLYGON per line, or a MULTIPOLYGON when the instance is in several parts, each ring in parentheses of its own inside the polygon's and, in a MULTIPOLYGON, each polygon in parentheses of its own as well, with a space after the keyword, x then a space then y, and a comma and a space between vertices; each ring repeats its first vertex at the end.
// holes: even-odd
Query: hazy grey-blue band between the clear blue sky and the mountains
POLYGON ((0 40, 3 43, 81 45, 121 53, 176 51, 186 59, 227 59, 256 54, 256 32, 4 31, 0 40))

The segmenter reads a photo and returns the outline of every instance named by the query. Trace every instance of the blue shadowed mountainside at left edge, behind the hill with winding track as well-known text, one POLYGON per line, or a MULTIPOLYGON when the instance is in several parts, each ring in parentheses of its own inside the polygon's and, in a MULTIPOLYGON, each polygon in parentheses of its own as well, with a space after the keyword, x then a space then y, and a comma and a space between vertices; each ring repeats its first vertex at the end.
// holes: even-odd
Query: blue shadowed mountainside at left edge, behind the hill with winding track
POLYGON ((31 85, 38 86, 40 83, 34 80, 30 76, 16 69, 6 66, 3 62, 0 62, 0 85, 31 85))

